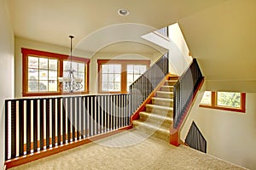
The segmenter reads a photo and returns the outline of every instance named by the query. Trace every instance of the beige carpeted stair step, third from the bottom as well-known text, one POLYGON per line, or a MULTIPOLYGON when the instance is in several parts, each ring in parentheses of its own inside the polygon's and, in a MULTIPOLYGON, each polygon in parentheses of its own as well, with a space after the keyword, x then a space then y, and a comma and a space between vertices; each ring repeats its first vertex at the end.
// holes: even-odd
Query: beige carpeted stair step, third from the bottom
POLYGON ((173 117, 173 108, 172 107, 166 107, 161 105, 146 105, 146 112, 152 112, 163 116, 171 116, 173 117))

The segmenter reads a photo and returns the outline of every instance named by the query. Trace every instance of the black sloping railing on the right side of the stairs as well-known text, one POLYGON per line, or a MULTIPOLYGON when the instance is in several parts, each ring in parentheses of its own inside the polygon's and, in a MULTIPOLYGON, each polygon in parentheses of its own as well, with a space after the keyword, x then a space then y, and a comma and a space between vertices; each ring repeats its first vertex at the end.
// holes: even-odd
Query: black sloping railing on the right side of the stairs
POLYGON ((193 100, 196 90, 203 80, 200 67, 193 59, 189 68, 179 77, 173 88, 173 127, 181 126, 193 100))

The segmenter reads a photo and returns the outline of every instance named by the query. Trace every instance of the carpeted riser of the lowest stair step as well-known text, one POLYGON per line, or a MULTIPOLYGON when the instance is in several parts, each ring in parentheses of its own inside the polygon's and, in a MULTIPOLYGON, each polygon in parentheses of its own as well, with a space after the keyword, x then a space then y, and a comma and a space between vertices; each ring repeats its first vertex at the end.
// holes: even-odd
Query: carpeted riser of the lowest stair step
POLYGON ((170 142, 170 134, 167 133, 160 133, 157 130, 148 129, 147 127, 141 126, 141 125, 133 125, 134 128, 137 128, 140 131, 143 131, 144 133, 147 133, 150 136, 154 136, 155 138, 165 140, 166 142, 170 142))

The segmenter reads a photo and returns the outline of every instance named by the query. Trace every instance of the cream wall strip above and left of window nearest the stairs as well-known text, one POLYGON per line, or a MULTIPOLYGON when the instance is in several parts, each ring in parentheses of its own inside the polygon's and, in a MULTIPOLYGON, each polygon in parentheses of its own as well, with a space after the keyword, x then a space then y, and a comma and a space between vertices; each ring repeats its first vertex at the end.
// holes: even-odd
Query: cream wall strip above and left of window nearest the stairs
POLYGON ((159 59, 160 53, 154 54, 123 54, 123 53, 101 53, 98 52, 90 59, 90 94, 97 94, 98 67, 97 59, 149 59, 151 64, 159 59))

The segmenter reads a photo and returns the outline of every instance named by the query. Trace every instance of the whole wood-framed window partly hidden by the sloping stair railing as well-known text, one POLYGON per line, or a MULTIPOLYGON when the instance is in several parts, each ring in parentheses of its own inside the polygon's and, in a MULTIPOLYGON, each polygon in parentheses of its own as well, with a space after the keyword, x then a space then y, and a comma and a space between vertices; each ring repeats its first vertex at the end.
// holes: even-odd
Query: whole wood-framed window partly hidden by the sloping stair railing
POLYGON ((98 59, 98 92, 128 93, 129 86, 149 67, 149 60, 98 59))

